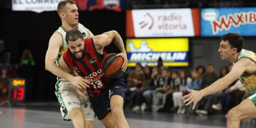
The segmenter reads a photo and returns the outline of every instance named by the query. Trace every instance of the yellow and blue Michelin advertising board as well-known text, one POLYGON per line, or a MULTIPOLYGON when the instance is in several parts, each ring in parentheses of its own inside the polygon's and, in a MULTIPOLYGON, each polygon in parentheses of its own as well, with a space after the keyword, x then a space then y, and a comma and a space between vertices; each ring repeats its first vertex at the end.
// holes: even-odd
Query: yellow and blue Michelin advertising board
POLYGON ((144 38, 127 39, 128 66, 156 66, 159 57, 164 66, 188 66, 188 38, 144 38))

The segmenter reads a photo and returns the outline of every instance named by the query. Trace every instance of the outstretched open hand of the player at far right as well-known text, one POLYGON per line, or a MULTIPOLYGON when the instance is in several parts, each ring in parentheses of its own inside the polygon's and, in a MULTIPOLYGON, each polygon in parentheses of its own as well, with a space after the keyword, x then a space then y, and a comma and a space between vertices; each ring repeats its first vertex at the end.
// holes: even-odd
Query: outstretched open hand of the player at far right
POLYGON ((187 88, 187 90, 188 90, 188 92, 190 92, 190 93, 187 94, 187 95, 185 95, 185 96, 183 96, 181 99, 187 98, 187 99, 184 101, 184 103, 188 102, 188 103, 186 103, 186 106, 189 105, 189 104, 191 104, 192 102, 194 102, 192 109, 195 109, 196 103, 197 103, 199 100, 201 100, 204 95, 201 93, 201 91, 190 90, 190 89, 188 89, 188 88, 187 88))

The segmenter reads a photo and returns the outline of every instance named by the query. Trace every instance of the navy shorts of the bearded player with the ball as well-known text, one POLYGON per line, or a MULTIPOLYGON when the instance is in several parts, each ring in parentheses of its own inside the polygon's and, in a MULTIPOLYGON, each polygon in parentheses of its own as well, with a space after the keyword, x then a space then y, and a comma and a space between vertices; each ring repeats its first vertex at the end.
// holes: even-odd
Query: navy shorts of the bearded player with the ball
POLYGON ((110 108, 110 98, 113 95, 120 95, 125 99, 125 84, 122 76, 117 78, 111 78, 108 85, 103 89, 101 94, 93 95, 90 97, 90 102, 92 103, 93 110, 97 115, 99 120, 104 119, 108 113, 111 112, 110 108))

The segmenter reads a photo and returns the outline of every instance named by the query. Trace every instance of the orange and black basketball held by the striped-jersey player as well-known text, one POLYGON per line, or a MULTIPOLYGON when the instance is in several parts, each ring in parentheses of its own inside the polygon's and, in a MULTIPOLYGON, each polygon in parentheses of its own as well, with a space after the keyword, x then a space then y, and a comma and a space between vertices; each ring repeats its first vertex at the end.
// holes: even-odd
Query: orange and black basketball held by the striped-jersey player
POLYGON ((116 57, 116 55, 116 53, 108 54, 101 61, 101 69, 103 73, 111 78, 118 77, 123 73, 121 67, 124 59, 121 56, 116 57))

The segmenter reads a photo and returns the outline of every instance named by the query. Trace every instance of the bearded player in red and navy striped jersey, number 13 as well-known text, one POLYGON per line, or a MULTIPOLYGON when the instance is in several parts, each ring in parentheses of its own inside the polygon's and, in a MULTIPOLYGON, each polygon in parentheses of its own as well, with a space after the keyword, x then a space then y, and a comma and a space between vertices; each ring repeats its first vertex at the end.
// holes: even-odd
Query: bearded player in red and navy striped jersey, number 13
MULTIPOLYGON (((87 79, 90 102, 98 119, 107 128, 129 128, 124 117, 123 103, 125 84, 122 76, 109 78, 101 69, 101 61, 107 55, 104 47, 114 42, 124 58, 122 71, 127 68, 127 55, 121 36, 116 31, 108 31, 91 39, 83 39, 78 30, 70 30, 66 35, 68 50, 59 63, 67 72, 76 71, 87 79)), ((84 96, 85 97, 85 96, 84 96)))

